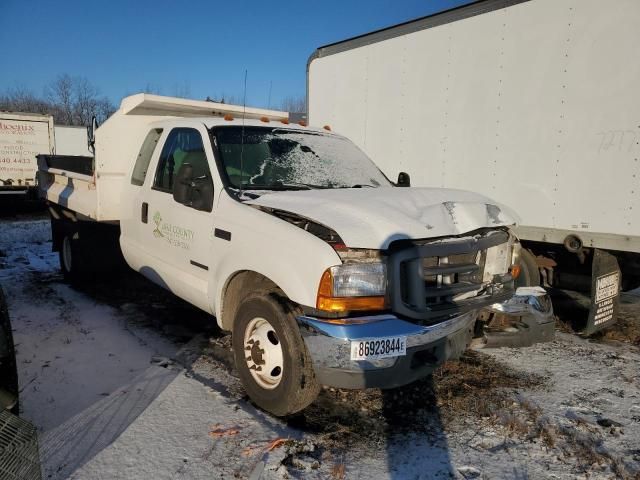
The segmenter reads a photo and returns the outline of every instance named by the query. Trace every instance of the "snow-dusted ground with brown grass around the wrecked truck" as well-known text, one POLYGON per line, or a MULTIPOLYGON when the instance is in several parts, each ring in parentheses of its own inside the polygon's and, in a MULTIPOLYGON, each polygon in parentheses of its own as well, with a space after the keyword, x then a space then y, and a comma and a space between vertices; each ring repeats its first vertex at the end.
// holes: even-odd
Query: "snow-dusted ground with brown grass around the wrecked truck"
MULTIPOLYGON (((136 274, 71 287, 50 250, 47 221, 0 223, 22 416, 41 432, 44 478, 640 475, 637 346, 559 333, 396 391, 327 389, 282 420, 247 401, 211 319, 136 274)), ((640 296, 625 300, 640 316, 640 296)))

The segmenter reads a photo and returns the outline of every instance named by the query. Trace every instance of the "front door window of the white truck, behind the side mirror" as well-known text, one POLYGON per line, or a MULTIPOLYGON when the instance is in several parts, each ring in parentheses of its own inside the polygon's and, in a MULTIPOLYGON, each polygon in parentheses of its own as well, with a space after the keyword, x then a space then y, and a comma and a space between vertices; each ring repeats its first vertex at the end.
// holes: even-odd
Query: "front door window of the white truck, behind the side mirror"
POLYGON ((172 193, 176 175, 185 163, 193 167, 194 178, 211 179, 200 132, 193 128, 175 128, 162 148, 153 188, 172 193))

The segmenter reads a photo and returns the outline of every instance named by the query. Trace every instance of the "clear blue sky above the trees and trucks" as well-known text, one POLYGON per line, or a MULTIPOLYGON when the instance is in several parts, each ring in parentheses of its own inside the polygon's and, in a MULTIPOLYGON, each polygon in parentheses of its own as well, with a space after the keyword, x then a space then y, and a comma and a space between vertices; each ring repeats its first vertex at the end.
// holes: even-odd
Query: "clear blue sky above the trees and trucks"
POLYGON ((58 74, 87 77, 115 103, 165 95, 242 96, 278 106, 305 93, 321 46, 468 0, 0 0, 0 93, 42 94, 58 74))

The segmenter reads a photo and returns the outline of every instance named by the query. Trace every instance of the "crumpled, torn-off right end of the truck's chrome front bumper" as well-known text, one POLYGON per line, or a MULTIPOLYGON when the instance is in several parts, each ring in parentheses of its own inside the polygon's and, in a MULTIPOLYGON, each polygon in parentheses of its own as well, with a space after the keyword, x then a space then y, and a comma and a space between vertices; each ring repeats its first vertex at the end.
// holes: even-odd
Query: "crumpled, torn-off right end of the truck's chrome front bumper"
POLYGON ((521 287, 503 303, 480 313, 484 348, 528 347, 555 337, 551 299, 542 287, 521 287))

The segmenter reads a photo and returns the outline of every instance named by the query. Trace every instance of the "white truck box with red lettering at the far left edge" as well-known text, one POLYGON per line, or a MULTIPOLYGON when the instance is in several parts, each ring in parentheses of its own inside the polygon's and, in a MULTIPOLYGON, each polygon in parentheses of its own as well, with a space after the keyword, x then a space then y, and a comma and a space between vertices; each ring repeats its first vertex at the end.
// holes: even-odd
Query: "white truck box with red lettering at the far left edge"
POLYGON ((54 150, 51 115, 0 112, 0 194, 35 193, 36 155, 54 150))

